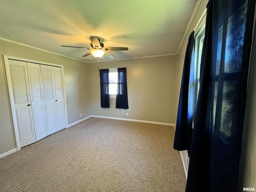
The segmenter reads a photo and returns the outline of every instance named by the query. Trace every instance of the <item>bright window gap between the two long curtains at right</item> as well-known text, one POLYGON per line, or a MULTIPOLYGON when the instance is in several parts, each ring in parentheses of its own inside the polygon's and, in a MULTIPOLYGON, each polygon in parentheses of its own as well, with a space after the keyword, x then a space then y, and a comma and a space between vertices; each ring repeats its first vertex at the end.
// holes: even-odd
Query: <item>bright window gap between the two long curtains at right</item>
POLYGON ((192 118, 192 127, 194 127, 194 116, 196 113, 196 103, 198 99, 198 92, 200 87, 200 65, 201 65, 201 57, 202 57, 202 49, 204 44, 204 31, 205 26, 201 27, 201 30, 196 34, 195 38, 195 74, 194 74, 194 115, 192 118))

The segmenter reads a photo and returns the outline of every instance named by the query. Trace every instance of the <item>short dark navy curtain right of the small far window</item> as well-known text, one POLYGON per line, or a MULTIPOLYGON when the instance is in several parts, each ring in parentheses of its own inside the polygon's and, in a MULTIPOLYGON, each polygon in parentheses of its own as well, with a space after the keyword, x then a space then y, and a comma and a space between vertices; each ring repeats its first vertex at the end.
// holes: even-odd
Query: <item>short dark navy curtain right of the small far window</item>
POLYGON ((117 72, 116 108, 128 109, 126 68, 117 68, 117 72))

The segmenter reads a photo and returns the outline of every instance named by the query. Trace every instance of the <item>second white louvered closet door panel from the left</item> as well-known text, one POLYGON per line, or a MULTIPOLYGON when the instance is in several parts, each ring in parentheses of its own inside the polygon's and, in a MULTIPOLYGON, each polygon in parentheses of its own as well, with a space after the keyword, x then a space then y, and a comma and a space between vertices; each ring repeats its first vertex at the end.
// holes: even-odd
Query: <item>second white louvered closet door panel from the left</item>
POLYGON ((27 62, 36 141, 47 136, 40 64, 27 62))

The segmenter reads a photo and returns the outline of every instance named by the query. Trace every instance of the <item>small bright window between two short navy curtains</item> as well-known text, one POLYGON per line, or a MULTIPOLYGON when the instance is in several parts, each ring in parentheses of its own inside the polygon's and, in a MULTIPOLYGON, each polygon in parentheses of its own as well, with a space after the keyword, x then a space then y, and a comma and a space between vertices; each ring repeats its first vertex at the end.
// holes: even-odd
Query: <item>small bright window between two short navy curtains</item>
POLYGON ((116 98, 117 93, 117 80, 118 80, 118 72, 117 68, 110 68, 108 72, 108 78, 109 78, 109 97, 110 98, 116 98))

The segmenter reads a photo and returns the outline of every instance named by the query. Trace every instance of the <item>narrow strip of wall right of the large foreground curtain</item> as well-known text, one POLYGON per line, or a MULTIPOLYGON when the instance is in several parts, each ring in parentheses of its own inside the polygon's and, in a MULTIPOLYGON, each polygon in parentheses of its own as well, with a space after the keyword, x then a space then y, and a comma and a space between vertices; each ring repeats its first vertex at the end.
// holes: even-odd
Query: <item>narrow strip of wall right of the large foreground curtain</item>
MULTIPOLYGON (((256 32, 256 31, 255 31, 256 32)), ((243 187, 256 188, 256 33, 252 50, 252 63, 246 98, 244 130, 242 138, 242 154, 240 160, 240 180, 238 191, 243 187)))

